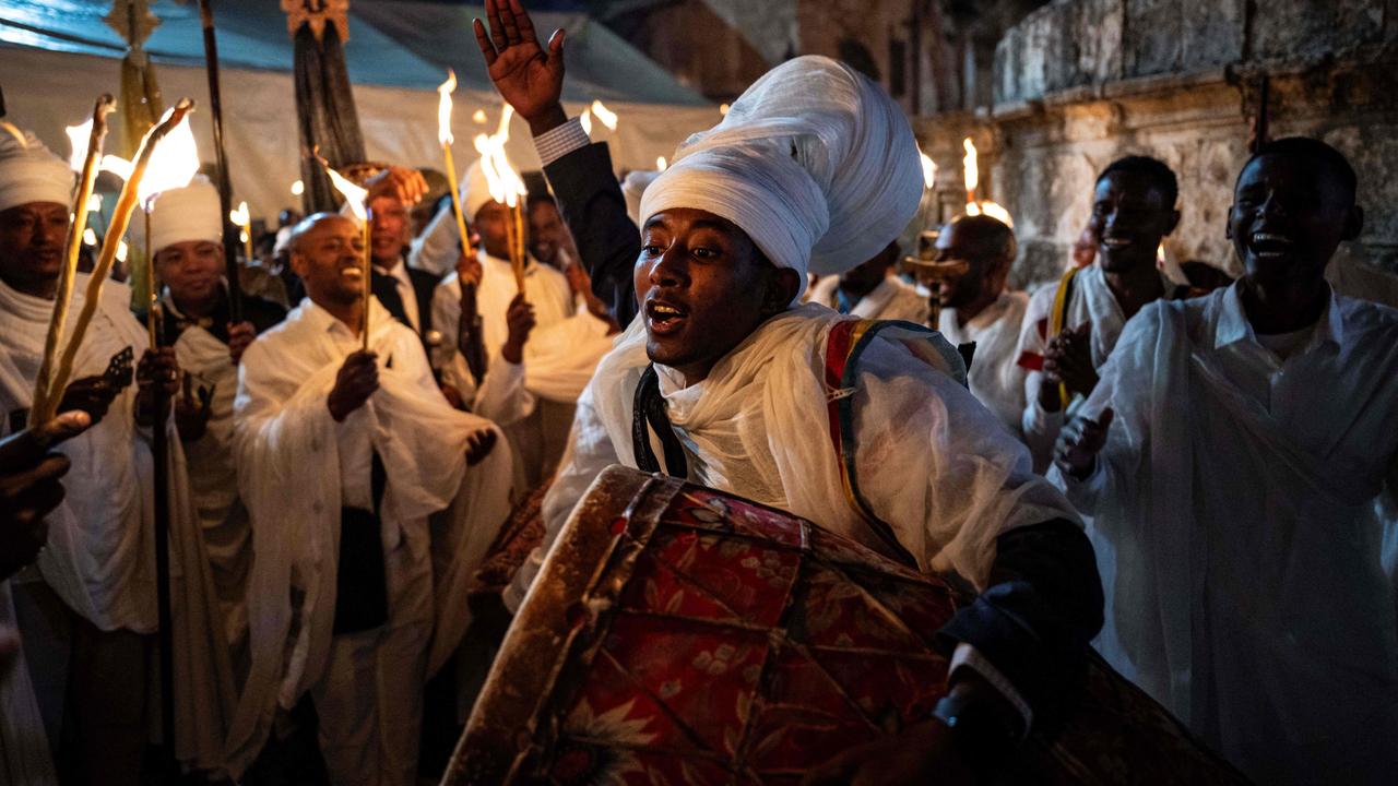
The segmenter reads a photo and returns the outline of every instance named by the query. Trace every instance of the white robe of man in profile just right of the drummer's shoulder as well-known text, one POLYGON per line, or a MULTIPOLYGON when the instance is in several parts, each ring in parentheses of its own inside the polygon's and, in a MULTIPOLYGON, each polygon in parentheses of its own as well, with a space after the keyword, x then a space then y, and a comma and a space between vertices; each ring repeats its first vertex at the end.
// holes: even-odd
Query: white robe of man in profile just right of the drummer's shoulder
POLYGON ((1029 372, 1015 361, 1019 358, 1019 326, 1028 305, 1029 295, 1025 292, 1001 292, 965 326, 952 308, 942 309, 937 326, 953 345, 976 343, 966 382, 972 394, 1015 436, 1023 434, 1025 376, 1029 372))

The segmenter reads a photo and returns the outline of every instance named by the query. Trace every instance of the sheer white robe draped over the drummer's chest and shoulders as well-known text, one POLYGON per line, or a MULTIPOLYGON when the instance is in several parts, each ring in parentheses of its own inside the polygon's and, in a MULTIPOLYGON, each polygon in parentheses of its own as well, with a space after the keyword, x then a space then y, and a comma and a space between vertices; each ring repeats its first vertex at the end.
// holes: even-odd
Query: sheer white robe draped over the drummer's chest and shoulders
MULTIPOLYGON (((826 340, 843 319, 815 303, 777 315, 689 387, 674 369, 656 369, 691 480, 791 510, 886 554, 844 496, 823 422, 826 340)), ((544 501, 545 547, 520 569, 507 603, 523 599, 542 552, 601 470, 636 466, 632 406, 649 364, 644 344, 637 319, 583 393, 570 452, 544 501)), ((945 345, 945 352, 955 350, 945 345)), ((918 568, 956 571, 983 587, 1000 534, 1078 519, 1032 473, 1025 446, 948 371, 884 336, 858 368, 850 394, 860 490, 918 568)))

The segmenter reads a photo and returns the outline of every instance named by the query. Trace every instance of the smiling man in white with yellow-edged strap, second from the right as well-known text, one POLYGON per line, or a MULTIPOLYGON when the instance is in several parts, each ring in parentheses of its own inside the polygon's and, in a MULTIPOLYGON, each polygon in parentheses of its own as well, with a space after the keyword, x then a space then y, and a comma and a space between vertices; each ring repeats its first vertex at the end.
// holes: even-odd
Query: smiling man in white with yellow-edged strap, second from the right
POLYGON ((1016 362, 1028 371, 1022 427, 1036 471, 1048 469, 1064 411, 1092 393, 1127 320, 1151 301, 1183 292, 1187 281, 1156 267, 1162 238, 1180 222, 1177 199, 1174 172, 1163 162, 1113 161, 1097 175, 1086 228, 1096 263, 1069 270, 1029 299, 1016 362))

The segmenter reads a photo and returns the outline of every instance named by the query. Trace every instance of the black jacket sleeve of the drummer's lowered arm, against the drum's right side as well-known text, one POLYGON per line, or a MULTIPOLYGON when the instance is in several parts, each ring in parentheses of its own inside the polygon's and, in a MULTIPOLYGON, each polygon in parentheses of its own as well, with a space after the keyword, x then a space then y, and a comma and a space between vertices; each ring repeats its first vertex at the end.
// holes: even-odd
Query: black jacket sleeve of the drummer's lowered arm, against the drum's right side
POLYGON ((986 592, 938 631, 949 652, 974 646, 1053 726, 1082 684, 1088 643, 1102 628, 1102 579, 1092 544, 1072 522, 1011 530, 995 541, 986 592))

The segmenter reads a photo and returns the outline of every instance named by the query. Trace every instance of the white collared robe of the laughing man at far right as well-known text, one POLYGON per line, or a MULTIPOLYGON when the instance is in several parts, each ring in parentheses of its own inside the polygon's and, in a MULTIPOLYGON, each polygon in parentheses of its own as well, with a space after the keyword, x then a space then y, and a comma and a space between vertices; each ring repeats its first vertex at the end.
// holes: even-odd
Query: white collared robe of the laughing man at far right
POLYGON ((1398 310, 1332 295, 1281 359, 1236 284, 1151 303, 1082 411, 1106 407, 1095 473, 1051 471, 1095 517, 1103 656, 1258 783, 1398 782, 1374 516, 1398 484, 1398 310))

